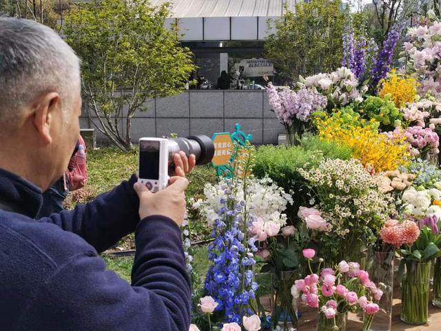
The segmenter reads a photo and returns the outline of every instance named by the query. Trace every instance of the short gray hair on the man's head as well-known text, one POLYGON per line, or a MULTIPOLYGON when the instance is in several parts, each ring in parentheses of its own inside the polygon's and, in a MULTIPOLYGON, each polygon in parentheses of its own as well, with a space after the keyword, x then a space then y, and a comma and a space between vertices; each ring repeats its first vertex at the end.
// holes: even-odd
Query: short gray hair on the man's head
POLYGON ((19 112, 45 92, 58 92, 65 110, 80 88, 79 58, 54 30, 0 17, 0 123, 13 125, 19 112))

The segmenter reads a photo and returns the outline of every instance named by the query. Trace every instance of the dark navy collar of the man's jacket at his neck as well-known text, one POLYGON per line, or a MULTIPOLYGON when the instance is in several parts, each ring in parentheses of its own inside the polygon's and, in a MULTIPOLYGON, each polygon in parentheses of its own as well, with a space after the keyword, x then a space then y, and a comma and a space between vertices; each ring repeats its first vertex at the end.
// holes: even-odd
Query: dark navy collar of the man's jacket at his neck
POLYGON ((6 170, 0 169, 0 209, 34 219, 43 204, 41 189, 6 170))

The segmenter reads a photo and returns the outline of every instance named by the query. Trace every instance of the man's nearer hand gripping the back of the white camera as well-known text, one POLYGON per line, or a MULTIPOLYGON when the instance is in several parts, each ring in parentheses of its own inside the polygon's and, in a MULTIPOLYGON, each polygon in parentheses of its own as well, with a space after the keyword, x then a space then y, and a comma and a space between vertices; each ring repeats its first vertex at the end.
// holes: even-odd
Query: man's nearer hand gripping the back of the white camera
MULTIPOLYGON (((183 174, 185 176, 185 174, 183 174)), ((152 193, 145 185, 134 183, 133 188, 139 197, 139 217, 145 219, 152 215, 163 215, 181 226, 185 214, 185 189, 188 180, 185 177, 170 178, 167 188, 152 193)))

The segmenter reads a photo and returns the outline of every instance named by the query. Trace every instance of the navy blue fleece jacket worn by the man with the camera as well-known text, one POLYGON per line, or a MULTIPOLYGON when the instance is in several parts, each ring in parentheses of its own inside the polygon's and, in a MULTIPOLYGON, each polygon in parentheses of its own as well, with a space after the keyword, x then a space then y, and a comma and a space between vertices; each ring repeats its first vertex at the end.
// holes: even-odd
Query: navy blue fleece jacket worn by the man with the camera
POLYGON ((139 220, 135 181, 35 220, 41 190, 0 170, 0 330, 188 330, 181 232, 166 217, 139 220), (133 231, 130 285, 98 253, 133 231))

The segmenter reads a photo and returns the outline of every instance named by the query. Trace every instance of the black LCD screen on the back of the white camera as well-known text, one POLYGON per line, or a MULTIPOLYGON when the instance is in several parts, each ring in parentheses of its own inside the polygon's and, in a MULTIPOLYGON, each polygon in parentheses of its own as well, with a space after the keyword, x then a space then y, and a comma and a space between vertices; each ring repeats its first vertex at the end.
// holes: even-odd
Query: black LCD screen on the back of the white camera
POLYGON ((140 141, 139 177, 159 179, 159 141, 140 141))

